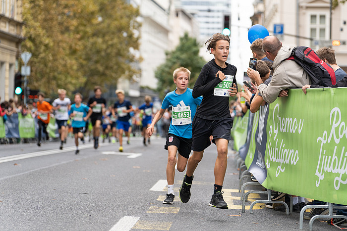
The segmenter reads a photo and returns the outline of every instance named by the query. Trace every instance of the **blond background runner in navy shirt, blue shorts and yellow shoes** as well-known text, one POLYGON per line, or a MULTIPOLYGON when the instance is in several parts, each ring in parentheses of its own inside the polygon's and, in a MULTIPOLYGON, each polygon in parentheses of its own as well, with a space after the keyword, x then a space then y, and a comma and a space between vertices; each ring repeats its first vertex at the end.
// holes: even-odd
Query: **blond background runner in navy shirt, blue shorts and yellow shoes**
POLYGON ((116 117, 115 109, 118 115, 117 120, 117 129, 118 129, 118 139, 119 139, 119 151, 123 151, 123 131, 125 132, 125 136, 128 138, 127 143, 130 143, 129 140, 129 128, 130 128, 130 112, 134 109, 132 108, 132 105, 129 100, 124 99, 124 91, 123 90, 116 90, 116 95, 118 97, 118 101, 115 102, 112 114, 116 117))

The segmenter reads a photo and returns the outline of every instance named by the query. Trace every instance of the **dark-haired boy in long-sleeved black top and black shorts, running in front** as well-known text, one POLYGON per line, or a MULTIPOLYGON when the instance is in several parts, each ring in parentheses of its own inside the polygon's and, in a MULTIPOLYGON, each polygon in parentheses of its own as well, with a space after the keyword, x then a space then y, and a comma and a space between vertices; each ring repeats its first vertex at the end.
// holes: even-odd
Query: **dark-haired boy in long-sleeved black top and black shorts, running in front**
POLYGON ((237 93, 236 67, 226 62, 229 55, 229 36, 214 34, 206 44, 207 50, 215 58, 203 66, 193 88, 193 97, 202 95, 203 98, 192 123, 193 154, 188 160, 179 198, 183 203, 189 201, 194 170, 201 161, 205 148, 211 145, 212 135, 212 142, 217 146, 217 159, 214 168, 214 192, 209 205, 227 209, 228 205, 222 196, 222 186, 227 170, 228 142, 231 139, 232 127, 229 96, 237 93))

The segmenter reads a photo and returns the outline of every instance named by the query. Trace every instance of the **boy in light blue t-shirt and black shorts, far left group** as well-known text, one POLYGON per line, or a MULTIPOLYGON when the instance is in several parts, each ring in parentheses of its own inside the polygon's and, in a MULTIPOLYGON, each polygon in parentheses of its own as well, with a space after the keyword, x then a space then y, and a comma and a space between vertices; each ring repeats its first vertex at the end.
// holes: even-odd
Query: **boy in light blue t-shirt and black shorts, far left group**
POLYGON ((81 103, 82 95, 80 93, 75 94, 75 103, 71 105, 69 116, 72 118, 72 129, 75 136, 76 151, 75 154, 79 153, 78 150, 78 138, 84 142, 83 134, 86 127, 86 121, 92 115, 93 111, 87 105, 81 103))

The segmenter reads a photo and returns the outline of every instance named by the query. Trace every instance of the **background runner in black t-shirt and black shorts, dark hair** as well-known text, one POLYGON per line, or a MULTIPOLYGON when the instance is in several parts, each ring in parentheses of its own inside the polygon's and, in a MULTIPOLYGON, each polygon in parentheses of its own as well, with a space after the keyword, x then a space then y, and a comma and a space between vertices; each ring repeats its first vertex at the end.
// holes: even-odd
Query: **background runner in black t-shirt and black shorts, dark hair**
POLYGON ((99 147, 99 137, 100 137, 100 126, 101 120, 103 117, 103 108, 106 106, 106 99, 104 99, 101 94, 101 87, 94 87, 95 95, 88 100, 88 106, 92 108, 93 114, 90 119, 93 125, 93 139, 94 139, 94 148, 99 147))

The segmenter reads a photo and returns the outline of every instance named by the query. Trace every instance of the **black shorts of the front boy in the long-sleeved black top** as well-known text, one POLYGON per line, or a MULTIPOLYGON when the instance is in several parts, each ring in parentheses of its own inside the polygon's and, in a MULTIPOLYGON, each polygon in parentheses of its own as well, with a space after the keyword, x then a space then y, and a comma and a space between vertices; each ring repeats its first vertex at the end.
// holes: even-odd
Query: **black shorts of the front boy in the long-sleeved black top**
POLYGON ((194 116, 192 123, 193 151, 203 151, 211 145, 210 136, 213 136, 212 142, 216 144, 215 139, 231 139, 230 130, 233 119, 231 117, 221 120, 205 120, 194 116))

